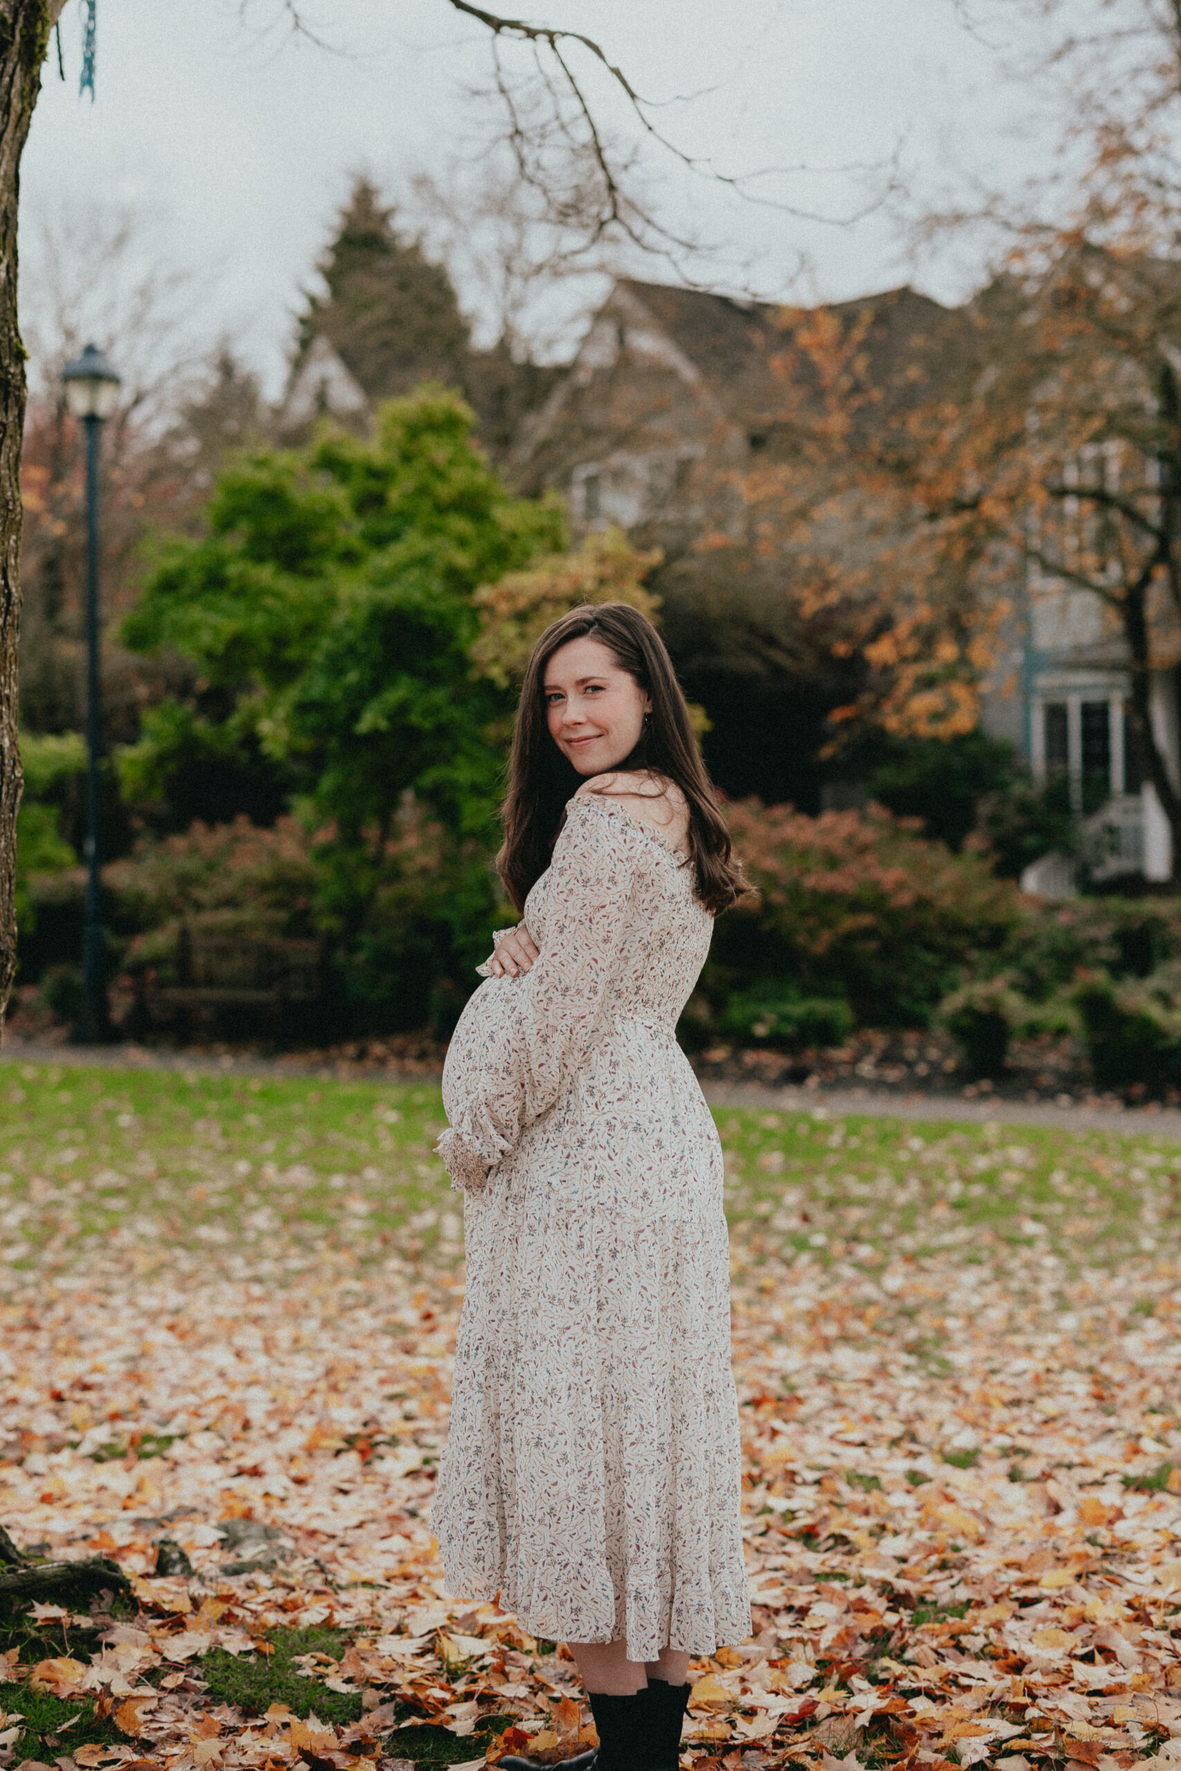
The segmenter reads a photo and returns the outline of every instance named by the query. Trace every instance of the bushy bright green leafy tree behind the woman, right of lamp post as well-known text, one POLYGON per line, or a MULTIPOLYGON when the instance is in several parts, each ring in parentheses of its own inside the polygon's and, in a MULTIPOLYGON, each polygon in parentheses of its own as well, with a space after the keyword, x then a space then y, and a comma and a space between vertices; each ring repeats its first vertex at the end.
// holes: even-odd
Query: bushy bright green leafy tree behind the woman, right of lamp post
POLYGON ((475 592, 563 538, 560 507, 512 498, 471 423, 462 400, 427 386, 390 402, 372 439, 324 434, 246 457, 221 475, 207 533, 163 549, 124 623, 127 645, 181 653, 198 682, 188 705, 145 721, 122 756, 126 790, 168 799, 202 765, 223 779, 271 769, 331 827, 317 848, 320 921, 347 994, 384 1004, 382 1018, 393 997, 409 1002, 409 949, 379 967, 358 956, 384 953, 381 905, 398 898, 411 852, 420 868, 407 806, 437 820, 432 854, 448 848, 423 951, 437 999, 462 1002, 446 976, 471 958, 473 928, 485 939, 480 912, 492 917, 503 746, 489 731, 508 707, 469 657, 475 592))

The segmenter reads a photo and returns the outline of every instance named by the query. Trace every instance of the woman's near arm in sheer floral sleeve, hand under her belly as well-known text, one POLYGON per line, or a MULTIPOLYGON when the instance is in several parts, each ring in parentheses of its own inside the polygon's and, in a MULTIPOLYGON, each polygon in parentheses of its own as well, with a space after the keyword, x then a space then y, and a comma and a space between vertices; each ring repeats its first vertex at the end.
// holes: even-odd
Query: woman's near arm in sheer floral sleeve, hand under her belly
POLYGON ((575 799, 558 838, 545 939, 503 1020, 443 1093, 437 1149, 455 1181, 480 1183, 581 1068, 618 974, 629 903, 646 859, 643 832, 606 800, 575 799))

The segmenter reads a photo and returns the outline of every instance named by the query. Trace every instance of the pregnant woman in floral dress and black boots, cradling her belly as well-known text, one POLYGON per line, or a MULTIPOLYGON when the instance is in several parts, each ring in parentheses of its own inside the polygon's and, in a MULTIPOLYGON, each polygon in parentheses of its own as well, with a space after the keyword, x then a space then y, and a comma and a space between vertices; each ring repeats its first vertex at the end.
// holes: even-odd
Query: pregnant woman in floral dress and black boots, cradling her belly
POLYGON ((745 887, 636 609, 538 639, 503 816, 522 921, 443 1077, 467 1293, 432 1528, 455 1596, 570 1645, 598 1771, 675 1771, 689 1656, 751 1629, 722 1153, 675 1036, 745 887))

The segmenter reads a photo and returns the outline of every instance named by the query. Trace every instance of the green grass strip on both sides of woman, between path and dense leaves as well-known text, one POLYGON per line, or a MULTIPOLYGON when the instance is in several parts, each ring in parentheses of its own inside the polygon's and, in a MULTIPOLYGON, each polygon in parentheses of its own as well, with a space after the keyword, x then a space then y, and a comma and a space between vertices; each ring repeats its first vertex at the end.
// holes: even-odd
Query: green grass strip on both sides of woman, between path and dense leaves
MULTIPOLYGON (((326 1243, 459 1259, 425 1084, 0 1064, 0 1252, 67 1270, 136 1247, 297 1272, 326 1243)), ((1043 1126, 724 1109, 726 1206, 753 1245, 873 1266, 1045 1249, 1087 1264, 1181 1241, 1181 1142, 1043 1126)), ((2 1270, 0 1270, 2 1272, 2 1270)), ((1149 1303, 1144 1305, 1147 1311, 1149 1303)), ((917 1348, 938 1364, 938 1346, 917 1348)), ((135 1447, 152 1456, 151 1443, 135 1447)), ((119 1456, 112 1435, 96 1456, 119 1456)))

